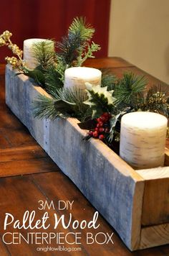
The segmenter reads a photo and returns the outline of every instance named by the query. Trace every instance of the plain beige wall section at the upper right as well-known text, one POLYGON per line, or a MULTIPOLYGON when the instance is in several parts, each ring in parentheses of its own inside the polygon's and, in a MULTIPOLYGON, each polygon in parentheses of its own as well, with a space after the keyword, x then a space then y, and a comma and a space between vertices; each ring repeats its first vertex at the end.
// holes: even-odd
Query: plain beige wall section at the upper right
POLYGON ((169 84, 169 0, 112 0, 108 55, 169 84))

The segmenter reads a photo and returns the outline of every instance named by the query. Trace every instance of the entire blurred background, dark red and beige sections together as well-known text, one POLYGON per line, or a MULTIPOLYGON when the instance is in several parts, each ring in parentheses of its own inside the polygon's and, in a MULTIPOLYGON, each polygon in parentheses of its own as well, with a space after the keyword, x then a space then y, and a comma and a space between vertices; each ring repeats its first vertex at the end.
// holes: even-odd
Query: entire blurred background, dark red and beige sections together
MULTIPOLYGON (((74 17, 95 27, 96 57, 119 56, 169 84, 169 0, 2 0, 0 34, 8 29, 22 48, 27 38, 67 33, 74 17)), ((10 56, 0 48, 0 63, 10 56)))

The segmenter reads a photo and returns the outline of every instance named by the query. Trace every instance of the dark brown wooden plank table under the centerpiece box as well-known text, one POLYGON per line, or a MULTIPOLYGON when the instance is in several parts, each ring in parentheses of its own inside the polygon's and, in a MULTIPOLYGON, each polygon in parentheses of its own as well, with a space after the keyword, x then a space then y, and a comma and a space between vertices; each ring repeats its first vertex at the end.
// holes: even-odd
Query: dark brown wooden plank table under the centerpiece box
MULTIPOLYGON (((120 58, 102 58, 87 61, 85 65, 94 68, 109 68, 116 76, 122 76, 124 70, 132 70, 134 73, 145 74, 148 76, 150 85, 159 84, 158 79, 144 73, 134 65, 127 63, 120 58)), ((161 83, 168 89, 165 83, 161 83)), ((46 231, 44 229, 35 229, 33 232, 64 232, 65 234, 71 232, 82 232, 82 244, 64 244, 64 247, 69 247, 70 252, 39 252, 37 248, 59 247, 56 240, 52 244, 27 244, 24 240, 19 243, 18 239, 14 239, 11 244, 11 234, 6 236, 5 242, 2 237, 6 232, 21 233, 26 236, 27 232, 32 232, 31 229, 14 229, 10 224, 4 230, 4 217, 6 213, 14 216, 14 219, 21 220, 26 210, 35 211, 36 218, 41 219, 44 211, 38 209, 40 200, 50 203, 53 201, 54 207, 46 209, 49 216, 54 213, 59 216, 65 215, 68 220, 69 212, 72 213, 73 220, 82 221, 83 219, 90 221, 95 209, 89 201, 80 193, 78 188, 74 186, 71 180, 62 173, 61 170, 55 165, 47 154, 37 145, 37 142, 27 131, 21 122, 11 113, 5 104, 5 91, 4 91, 4 65, 0 65, 0 255, 115 255, 115 256, 128 256, 128 255, 169 255, 169 245, 155 247, 148 250, 137 252, 130 252, 127 247, 122 243, 121 239, 115 233, 115 230, 99 216, 98 229, 76 229, 75 231, 70 226, 68 229, 63 229, 59 225, 54 231, 52 229, 53 219, 49 219, 51 226, 46 231), (74 201, 72 211, 58 209, 59 201, 74 201), (86 233, 92 232, 93 236, 99 232, 112 235, 112 242, 104 244, 87 244, 86 233), (77 251, 76 248, 79 248, 77 251)), ((69 239, 73 242, 73 234, 69 234, 69 239)), ((101 239, 101 238, 100 238, 101 239)), ((101 242, 100 240, 98 242, 101 242)), ((63 244, 61 244, 63 246, 63 244)), ((62 249, 62 248, 61 248, 62 249)), ((65 248, 64 248, 65 249, 65 248)), ((41 249, 42 250, 42 249, 41 249)))

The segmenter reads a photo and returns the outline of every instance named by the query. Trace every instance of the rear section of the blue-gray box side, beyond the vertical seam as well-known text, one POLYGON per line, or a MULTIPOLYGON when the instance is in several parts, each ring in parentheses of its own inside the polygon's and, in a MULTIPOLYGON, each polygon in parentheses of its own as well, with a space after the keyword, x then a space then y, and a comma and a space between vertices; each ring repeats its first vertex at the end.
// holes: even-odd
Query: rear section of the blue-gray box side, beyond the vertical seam
POLYGON ((38 91, 24 75, 16 76, 16 71, 6 65, 6 104, 29 129, 35 140, 45 148, 45 120, 34 119, 32 101, 37 99, 38 91))

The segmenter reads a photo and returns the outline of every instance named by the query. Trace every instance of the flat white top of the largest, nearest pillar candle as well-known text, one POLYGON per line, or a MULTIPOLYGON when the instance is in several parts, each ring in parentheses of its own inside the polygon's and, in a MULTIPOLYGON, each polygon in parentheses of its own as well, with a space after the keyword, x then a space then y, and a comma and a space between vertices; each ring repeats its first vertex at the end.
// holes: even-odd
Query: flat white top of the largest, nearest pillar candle
POLYGON ((122 116, 122 122, 128 127, 139 129, 158 129, 166 126, 168 119, 161 114, 145 111, 137 111, 122 116))

